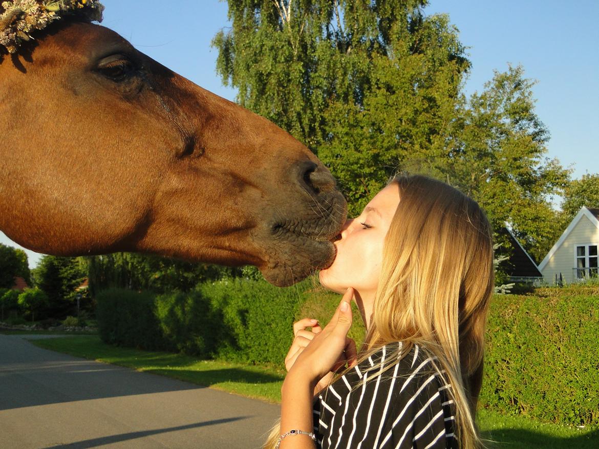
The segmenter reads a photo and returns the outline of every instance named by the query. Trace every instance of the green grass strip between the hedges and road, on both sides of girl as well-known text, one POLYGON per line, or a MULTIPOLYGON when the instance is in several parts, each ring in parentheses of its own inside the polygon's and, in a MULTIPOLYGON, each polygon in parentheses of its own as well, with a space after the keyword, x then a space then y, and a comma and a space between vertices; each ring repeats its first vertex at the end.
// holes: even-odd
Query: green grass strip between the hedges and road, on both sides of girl
MULTIPOLYGON (((68 336, 33 341, 33 344, 72 356, 113 363, 154 374, 165 375, 210 386, 226 392, 268 402, 279 402, 283 371, 226 363, 198 360, 180 354, 140 351, 104 344, 96 335, 68 336)), ((573 429, 545 424, 526 417, 504 416, 481 410, 478 424, 482 436, 491 448, 497 449, 597 449, 599 428, 573 429)))

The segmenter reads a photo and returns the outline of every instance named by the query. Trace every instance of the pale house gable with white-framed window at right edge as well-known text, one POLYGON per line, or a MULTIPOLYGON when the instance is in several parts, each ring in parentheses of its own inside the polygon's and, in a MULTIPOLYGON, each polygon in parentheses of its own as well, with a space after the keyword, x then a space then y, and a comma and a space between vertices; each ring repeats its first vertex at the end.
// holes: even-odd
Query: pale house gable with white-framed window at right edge
POLYGON ((539 264, 547 284, 597 277, 599 209, 583 207, 539 264))

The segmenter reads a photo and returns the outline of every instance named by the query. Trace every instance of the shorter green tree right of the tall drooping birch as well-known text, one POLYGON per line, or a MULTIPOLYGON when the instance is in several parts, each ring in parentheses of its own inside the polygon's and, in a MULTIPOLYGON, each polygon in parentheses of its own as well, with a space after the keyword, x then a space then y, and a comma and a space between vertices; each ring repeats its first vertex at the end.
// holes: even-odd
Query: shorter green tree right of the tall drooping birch
POLYGON ((496 71, 481 93, 459 105, 447 155, 426 162, 479 201, 495 229, 509 223, 539 261, 559 227, 550 200, 567 186, 569 171, 546 156, 549 132, 534 110, 533 86, 521 66, 496 71))

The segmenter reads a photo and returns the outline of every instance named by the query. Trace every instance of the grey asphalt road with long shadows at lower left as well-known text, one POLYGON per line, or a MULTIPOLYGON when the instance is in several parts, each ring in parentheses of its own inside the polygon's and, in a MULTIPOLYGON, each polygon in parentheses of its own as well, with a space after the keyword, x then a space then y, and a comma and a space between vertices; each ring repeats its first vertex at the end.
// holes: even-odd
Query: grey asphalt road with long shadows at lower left
POLYGON ((279 406, 0 335, 0 448, 258 448, 279 406))

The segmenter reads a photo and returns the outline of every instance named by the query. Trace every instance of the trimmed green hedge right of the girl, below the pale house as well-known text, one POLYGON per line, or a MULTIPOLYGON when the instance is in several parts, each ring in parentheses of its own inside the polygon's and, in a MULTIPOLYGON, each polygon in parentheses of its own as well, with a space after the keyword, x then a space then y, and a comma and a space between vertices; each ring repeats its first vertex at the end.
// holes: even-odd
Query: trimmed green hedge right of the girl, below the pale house
POLYGON ((494 296, 480 403, 562 424, 599 424, 599 289, 494 296))

